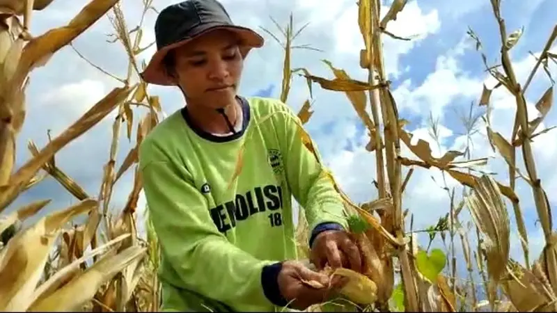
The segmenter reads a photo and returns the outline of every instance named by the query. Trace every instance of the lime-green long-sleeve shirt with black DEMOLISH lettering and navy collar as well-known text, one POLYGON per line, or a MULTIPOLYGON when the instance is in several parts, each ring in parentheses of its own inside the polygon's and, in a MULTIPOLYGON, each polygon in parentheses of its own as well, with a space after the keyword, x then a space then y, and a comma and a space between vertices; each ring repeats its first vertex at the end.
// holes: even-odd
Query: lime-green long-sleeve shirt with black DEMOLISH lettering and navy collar
POLYGON ((181 109, 141 144, 148 212, 162 246, 162 310, 283 305, 276 275, 281 261, 297 257, 292 195, 310 230, 347 227, 341 198, 301 141, 297 116, 275 99, 238 99, 236 134, 208 134, 181 109), (242 171, 227 188, 242 146, 242 171))

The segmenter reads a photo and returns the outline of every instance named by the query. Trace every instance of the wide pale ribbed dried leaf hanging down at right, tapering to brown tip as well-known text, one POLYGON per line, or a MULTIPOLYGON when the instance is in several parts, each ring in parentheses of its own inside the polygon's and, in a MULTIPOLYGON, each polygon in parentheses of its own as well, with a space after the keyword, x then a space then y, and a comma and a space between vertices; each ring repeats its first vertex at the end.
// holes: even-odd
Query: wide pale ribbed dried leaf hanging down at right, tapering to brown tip
POLYGON ((509 259, 508 211, 501 199, 499 186, 492 177, 483 175, 476 182, 471 195, 465 200, 474 223, 485 235, 487 272, 494 282, 499 282, 509 259))

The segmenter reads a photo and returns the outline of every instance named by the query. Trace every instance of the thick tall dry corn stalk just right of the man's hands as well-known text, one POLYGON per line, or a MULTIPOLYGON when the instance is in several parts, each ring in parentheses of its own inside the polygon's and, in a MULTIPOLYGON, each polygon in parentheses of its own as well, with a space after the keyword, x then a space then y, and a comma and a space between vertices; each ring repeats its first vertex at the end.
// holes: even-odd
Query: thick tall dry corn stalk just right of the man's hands
MULTIPOLYGON (((370 85, 375 85, 377 81, 378 83, 386 83, 387 81, 382 55, 382 30, 386 29, 388 22, 396 17, 397 13, 404 8, 405 4, 406 1, 394 1, 391 5, 389 13, 387 13, 383 20, 380 20, 380 1, 361 0, 359 3, 359 22, 361 24, 367 24, 368 26, 367 32, 363 33, 363 35, 364 42, 366 43, 365 63, 368 63, 368 81, 370 85), (367 13, 366 10, 368 11, 367 13), (366 22, 365 20, 366 15, 369 22, 366 22)), ((385 136, 386 170, 389 177, 389 187, 393 200, 393 214, 392 216, 387 216, 386 214, 381 216, 382 224, 386 230, 395 236, 396 239, 402 240, 405 236, 405 227, 404 220, 402 218, 402 163, 399 158, 400 138, 398 134, 398 110, 388 86, 377 90, 370 90, 368 93, 370 97, 372 115, 376 126, 379 125, 377 106, 381 108, 385 136)), ((377 137, 379 137, 378 133, 375 136, 376 143, 381 143, 381 141, 377 141, 377 137)), ((377 145, 377 150, 375 150, 379 198, 384 198, 387 194, 386 186, 383 181, 384 173, 382 171, 384 164, 382 153, 381 145, 379 144, 377 145)), ((400 268, 402 271, 402 284, 405 289, 405 307, 409 311, 416 312, 419 310, 419 299, 416 291, 416 281, 414 280, 413 262, 409 258, 409 253, 405 249, 398 250, 398 259, 400 260, 400 268)))

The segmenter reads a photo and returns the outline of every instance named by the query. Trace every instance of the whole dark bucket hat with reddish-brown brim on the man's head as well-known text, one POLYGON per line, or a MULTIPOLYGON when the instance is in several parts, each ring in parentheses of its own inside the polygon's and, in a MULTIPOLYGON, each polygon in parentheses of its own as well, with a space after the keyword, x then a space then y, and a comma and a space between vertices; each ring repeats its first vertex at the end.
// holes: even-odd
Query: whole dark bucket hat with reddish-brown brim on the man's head
POLYGON ((155 85, 175 83, 166 74, 164 56, 171 49, 185 45, 199 35, 217 29, 232 31, 240 38, 242 58, 252 48, 262 47, 263 38, 246 27, 233 24, 225 8, 217 0, 186 0, 164 8, 155 22, 157 52, 152 56, 141 77, 155 85))

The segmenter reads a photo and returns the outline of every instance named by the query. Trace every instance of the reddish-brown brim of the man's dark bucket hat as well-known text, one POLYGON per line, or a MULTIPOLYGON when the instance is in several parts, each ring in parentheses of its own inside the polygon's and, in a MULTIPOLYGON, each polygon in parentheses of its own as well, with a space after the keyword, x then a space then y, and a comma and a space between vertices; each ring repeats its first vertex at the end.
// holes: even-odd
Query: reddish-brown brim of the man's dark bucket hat
POLYGON ((262 47, 264 42, 264 39, 258 33, 246 27, 223 24, 205 26, 205 29, 198 31, 198 33, 192 35, 191 37, 185 38, 183 40, 180 40, 179 42, 173 43, 172 45, 168 45, 166 47, 163 47, 162 49, 159 49, 152 56, 147 67, 141 73, 141 77, 147 83, 162 86, 175 86, 175 82, 173 81, 173 79, 171 79, 171 77, 168 77, 168 75, 166 74, 166 69, 164 68, 164 64, 162 62, 166 54, 168 54, 168 51, 181 47, 182 45, 186 45, 188 42, 191 42, 191 40, 198 38, 200 35, 204 35, 206 33, 219 29, 232 31, 238 36, 238 38, 240 38, 240 54, 242 54, 242 58, 245 58, 251 49, 262 47))

